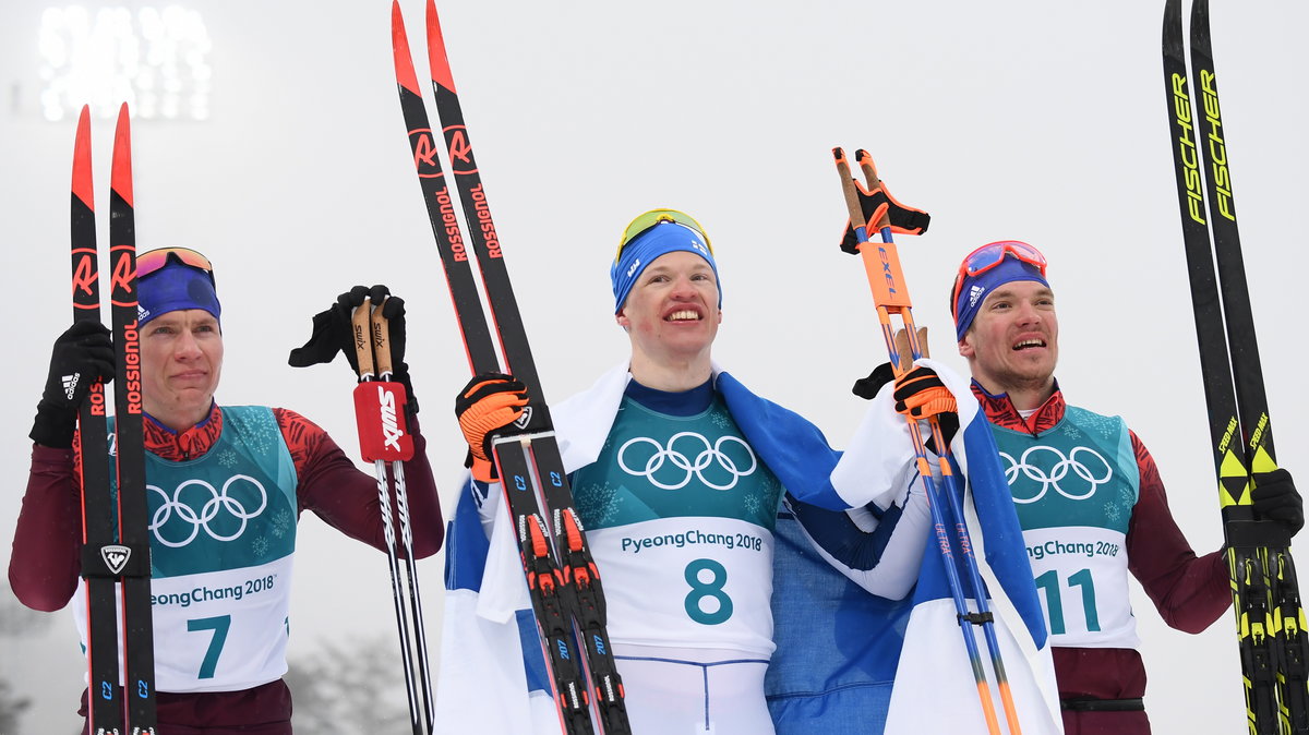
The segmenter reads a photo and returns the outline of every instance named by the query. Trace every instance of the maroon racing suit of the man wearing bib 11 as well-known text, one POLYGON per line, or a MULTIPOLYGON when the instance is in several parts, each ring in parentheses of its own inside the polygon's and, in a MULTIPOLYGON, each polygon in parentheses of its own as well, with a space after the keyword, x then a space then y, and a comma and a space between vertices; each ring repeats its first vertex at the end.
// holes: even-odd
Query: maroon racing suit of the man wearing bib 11
MULTIPOLYGON (((1059 386, 1035 413, 1024 419, 1008 395, 990 395, 975 381, 973 394, 987 420, 1007 429, 1038 436, 1064 417, 1067 404, 1059 386)), ((1168 509, 1158 468, 1145 445, 1131 433, 1140 471, 1140 494, 1127 527, 1127 565, 1153 600, 1164 623, 1187 633, 1208 628, 1232 604, 1223 549, 1195 556, 1168 509)), ((1135 649, 1051 647, 1066 735, 1147 735, 1143 705, 1145 666, 1135 649), (1101 709, 1123 706, 1122 710, 1101 709)))

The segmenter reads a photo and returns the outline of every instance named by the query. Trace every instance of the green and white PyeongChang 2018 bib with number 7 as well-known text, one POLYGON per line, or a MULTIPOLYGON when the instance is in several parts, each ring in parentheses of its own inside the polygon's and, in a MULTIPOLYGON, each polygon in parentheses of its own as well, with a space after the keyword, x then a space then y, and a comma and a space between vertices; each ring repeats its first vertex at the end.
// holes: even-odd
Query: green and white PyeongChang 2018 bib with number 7
MULTIPOLYGON (((295 463, 268 408, 224 408, 223 421, 198 459, 145 455, 161 692, 247 689, 287 671, 295 463)), ((85 642, 84 595, 85 582, 73 604, 85 642)))

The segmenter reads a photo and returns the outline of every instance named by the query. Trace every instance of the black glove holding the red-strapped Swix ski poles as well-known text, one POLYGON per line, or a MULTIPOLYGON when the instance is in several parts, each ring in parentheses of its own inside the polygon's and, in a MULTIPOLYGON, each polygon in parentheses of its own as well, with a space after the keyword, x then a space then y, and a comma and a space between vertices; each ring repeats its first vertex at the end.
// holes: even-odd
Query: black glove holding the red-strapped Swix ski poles
POLYGON ((414 395, 414 385, 410 381, 408 365, 404 362, 404 299, 390 296, 390 289, 385 285, 373 288, 355 286, 336 297, 336 303, 326 311, 314 314, 314 331, 304 347, 291 350, 287 360, 292 368, 308 368, 331 362, 338 352, 346 354, 351 370, 359 374, 359 357, 355 354, 355 332, 351 327, 351 314, 368 298, 372 303, 382 303, 382 316, 387 320, 391 343, 391 381, 402 383, 408 394, 406 411, 410 415, 418 413, 418 398, 414 395), (390 298, 387 298, 390 297, 390 298))

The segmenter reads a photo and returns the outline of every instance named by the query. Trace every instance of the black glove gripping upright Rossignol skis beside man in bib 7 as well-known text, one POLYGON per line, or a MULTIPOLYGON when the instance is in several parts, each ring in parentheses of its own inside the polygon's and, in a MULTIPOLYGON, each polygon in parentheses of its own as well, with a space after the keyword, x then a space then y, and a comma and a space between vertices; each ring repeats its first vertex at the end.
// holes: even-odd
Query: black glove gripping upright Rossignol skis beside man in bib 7
POLYGON ((96 381, 114 379, 114 343, 99 322, 76 322, 55 339, 50 375, 37 404, 31 441, 68 449, 77 430, 77 411, 96 381))

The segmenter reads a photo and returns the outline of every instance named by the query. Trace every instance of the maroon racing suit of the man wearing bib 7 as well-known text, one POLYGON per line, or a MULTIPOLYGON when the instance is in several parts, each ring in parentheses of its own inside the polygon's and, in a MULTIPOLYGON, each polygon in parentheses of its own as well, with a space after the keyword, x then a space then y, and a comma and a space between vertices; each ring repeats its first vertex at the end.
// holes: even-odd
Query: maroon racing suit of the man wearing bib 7
MULTIPOLYGON (((338 531, 377 549, 386 549, 377 479, 361 472, 318 425, 284 408, 272 409, 296 467, 298 511, 312 510, 338 531)), ((147 420, 145 450, 165 460, 204 455, 223 433, 223 411, 175 433, 147 420)), ((410 417, 414 459, 404 463, 414 556, 441 548, 444 523, 427 441, 410 417)), ((79 446, 76 438, 73 446, 79 446)), ((33 445, 31 471, 13 536, 9 585, 27 607, 56 611, 68 604, 81 570, 80 462, 72 449, 33 445)), ((298 517, 298 514, 297 514, 298 517)), ((403 552, 402 552, 403 553, 403 552)), ((291 732, 291 693, 280 679, 240 692, 157 693, 160 732, 291 732)), ((82 692, 80 714, 86 714, 82 692)))

